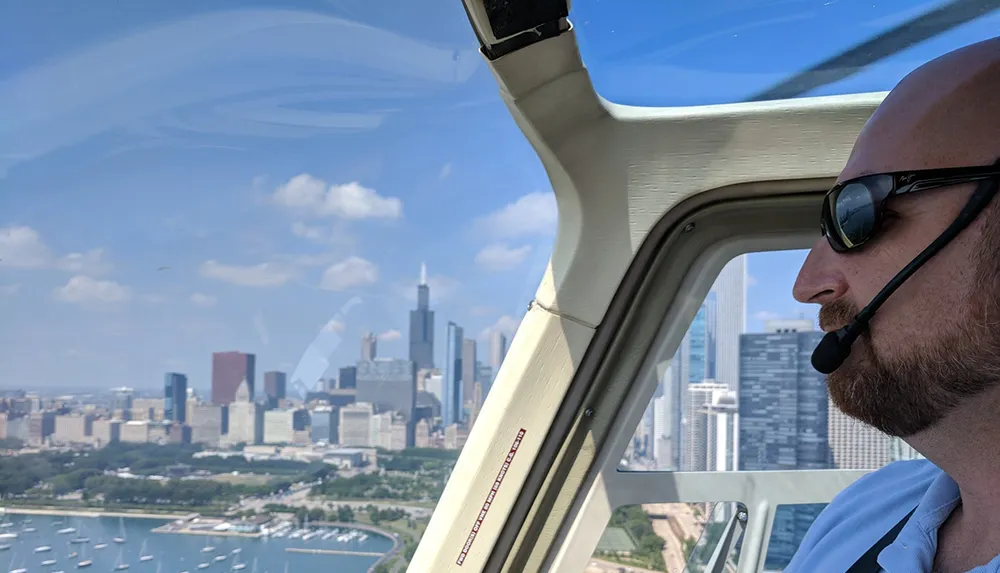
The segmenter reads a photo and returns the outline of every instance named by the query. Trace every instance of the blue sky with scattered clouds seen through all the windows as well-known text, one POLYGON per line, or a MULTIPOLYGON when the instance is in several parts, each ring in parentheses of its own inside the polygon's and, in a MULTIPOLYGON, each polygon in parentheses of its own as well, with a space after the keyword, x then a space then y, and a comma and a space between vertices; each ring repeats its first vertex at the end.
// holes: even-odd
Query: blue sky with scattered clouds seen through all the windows
MULTIPOLYGON (((603 96, 691 105, 936 4, 579 0, 571 19, 603 96)), ((817 93, 888 89, 995 20, 817 93)), ((291 371, 323 328, 334 366, 365 331, 405 357, 422 262, 439 340, 448 320, 510 331, 535 291, 551 187, 458 0, 8 2, 0 37, 2 387, 205 388, 213 351, 291 371)), ((751 330, 815 316, 790 295, 803 256, 751 256, 751 330)))

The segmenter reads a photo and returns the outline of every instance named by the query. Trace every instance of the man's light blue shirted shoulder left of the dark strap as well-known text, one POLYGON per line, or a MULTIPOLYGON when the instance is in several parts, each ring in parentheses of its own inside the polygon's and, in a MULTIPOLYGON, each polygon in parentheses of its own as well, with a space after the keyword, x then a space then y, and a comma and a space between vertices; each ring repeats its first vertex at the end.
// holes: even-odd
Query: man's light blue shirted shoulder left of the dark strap
POLYGON ((940 474, 927 460, 893 462, 865 474, 819 514, 786 571, 846 571, 916 507, 940 474))

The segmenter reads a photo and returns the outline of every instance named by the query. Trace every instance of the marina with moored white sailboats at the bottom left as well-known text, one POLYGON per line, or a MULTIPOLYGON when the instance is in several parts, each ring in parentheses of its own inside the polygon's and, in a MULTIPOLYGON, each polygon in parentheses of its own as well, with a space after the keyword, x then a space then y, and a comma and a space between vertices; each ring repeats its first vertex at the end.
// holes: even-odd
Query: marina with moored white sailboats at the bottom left
POLYGON ((395 539, 361 524, 227 520, 197 514, 153 520, 80 513, 33 518, 9 511, 0 514, 4 523, 10 523, 0 527, 0 535, 8 536, 3 544, 10 555, 7 571, 282 573, 322 567, 365 573, 396 546, 395 539), (34 531, 26 531, 28 519, 35 522, 34 531))

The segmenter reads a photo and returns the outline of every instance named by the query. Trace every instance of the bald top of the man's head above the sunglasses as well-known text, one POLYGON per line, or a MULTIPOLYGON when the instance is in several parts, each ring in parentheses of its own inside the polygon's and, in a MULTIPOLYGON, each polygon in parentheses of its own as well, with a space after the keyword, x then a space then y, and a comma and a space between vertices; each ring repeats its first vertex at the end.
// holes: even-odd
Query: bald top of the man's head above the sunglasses
POLYGON ((841 179, 1000 158, 1000 38, 927 62, 903 78, 861 131, 841 179))

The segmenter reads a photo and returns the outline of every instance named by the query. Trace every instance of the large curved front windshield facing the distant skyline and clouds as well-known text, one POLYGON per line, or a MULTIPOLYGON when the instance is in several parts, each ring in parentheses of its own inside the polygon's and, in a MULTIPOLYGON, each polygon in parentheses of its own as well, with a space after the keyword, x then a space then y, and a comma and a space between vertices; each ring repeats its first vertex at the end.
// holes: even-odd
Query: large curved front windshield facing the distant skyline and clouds
POLYGON ((0 38, 0 494, 160 520, 35 545, 404 566, 556 230, 461 3, 6 2, 0 38), (191 514, 229 537, 148 536, 191 514))

